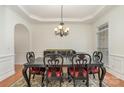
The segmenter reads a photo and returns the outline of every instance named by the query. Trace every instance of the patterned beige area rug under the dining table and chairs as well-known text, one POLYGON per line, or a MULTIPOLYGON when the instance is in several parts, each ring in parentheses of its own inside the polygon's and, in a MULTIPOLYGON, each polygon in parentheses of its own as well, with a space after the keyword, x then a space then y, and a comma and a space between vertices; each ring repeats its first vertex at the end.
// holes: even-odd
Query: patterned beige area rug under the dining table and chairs
MULTIPOLYGON (((44 81, 45 83, 45 81, 44 81)), ((25 79, 22 77, 13 83, 10 87, 27 87, 25 79)), ((31 87, 41 87, 41 76, 36 76, 34 79, 31 79, 31 87)), ((59 87, 59 81, 52 80, 49 81, 48 87, 59 87)), ((73 81, 68 82, 67 79, 64 79, 61 87, 73 87, 73 81)), ((83 80, 76 80, 76 87, 86 87, 86 82, 83 80)), ((99 81, 97 78, 93 78, 90 75, 89 87, 99 87, 99 81)), ((109 87, 104 81, 102 87, 109 87)))

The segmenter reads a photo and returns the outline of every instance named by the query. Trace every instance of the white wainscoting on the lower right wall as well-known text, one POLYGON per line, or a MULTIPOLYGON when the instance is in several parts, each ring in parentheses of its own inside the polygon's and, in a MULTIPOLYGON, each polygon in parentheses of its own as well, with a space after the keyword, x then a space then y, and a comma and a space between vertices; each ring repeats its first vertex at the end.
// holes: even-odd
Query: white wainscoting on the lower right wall
POLYGON ((109 57, 109 71, 124 80, 124 56, 111 54, 109 57))

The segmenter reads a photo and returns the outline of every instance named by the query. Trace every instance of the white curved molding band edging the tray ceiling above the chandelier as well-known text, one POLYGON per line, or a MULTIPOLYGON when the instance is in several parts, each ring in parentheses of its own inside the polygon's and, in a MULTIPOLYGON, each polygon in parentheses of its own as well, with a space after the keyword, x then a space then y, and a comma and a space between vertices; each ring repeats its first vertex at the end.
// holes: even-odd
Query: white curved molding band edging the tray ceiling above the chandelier
MULTIPOLYGON (((60 18, 39 18, 33 14, 30 14, 27 12, 22 6, 17 6, 26 16, 28 16, 30 19, 35 20, 37 22, 58 22, 60 21, 60 18)), ((97 17, 101 11, 106 10, 107 6, 102 6, 100 9, 98 9, 95 13, 93 13, 90 16, 84 17, 84 18, 64 18, 64 21, 66 22, 85 22, 87 20, 93 20, 95 17, 97 17)))

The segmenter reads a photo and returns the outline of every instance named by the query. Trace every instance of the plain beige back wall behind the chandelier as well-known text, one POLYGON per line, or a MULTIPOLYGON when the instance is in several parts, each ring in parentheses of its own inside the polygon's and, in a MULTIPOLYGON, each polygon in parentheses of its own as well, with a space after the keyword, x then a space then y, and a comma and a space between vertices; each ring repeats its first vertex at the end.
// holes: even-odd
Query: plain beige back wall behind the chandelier
POLYGON ((77 52, 94 51, 94 32, 91 24, 65 23, 70 28, 66 37, 56 36, 54 28, 59 23, 32 25, 32 49, 42 54, 48 48, 67 48, 77 52))

